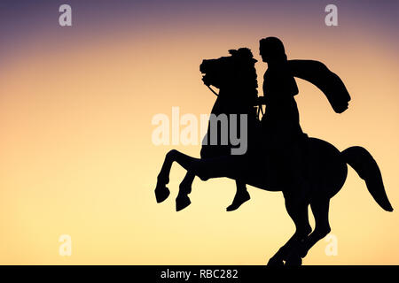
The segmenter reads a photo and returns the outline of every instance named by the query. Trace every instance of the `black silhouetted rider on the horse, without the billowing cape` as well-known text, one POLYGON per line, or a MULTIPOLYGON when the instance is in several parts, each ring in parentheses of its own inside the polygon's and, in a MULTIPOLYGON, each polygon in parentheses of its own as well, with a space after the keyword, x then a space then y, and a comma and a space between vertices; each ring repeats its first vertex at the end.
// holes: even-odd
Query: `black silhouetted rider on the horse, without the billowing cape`
MULTIPOLYGON (((306 135, 301 130, 298 107, 293 97, 298 94, 298 87, 288 65, 283 42, 277 37, 263 38, 259 50, 268 69, 263 76, 263 96, 258 98, 260 107, 266 105, 262 134, 258 138, 278 151, 278 165, 285 166, 286 172, 292 172, 287 178, 290 186, 301 186, 304 177, 303 168, 300 168, 302 156, 299 147, 306 135)), ((237 210, 249 199, 246 187, 238 186, 233 203, 227 210, 237 210)))

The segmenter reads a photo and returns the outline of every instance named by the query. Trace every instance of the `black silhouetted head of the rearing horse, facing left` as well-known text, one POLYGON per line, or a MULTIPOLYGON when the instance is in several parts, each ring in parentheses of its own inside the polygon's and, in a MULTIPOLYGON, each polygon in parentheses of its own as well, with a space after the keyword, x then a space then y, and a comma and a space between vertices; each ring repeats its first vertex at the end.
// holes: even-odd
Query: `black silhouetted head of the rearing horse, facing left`
POLYGON ((207 86, 215 86, 221 90, 240 96, 256 98, 258 87, 254 64, 257 62, 251 50, 240 48, 229 50, 231 56, 217 59, 203 60, 200 72, 204 74, 202 80, 207 86))

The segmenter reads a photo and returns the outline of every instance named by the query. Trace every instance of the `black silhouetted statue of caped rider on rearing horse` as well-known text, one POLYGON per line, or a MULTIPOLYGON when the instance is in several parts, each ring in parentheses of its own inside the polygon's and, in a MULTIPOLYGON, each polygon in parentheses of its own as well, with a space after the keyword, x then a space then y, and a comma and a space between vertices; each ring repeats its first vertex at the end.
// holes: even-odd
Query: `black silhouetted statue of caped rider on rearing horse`
MULTIPOLYGON (((366 183, 370 194, 379 206, 393 211, 383 185, 379 166, 364 148, 354 146, 336 149, 329 142, 309 138, 301 130, 299 113, 294 96, 298 88, 294 77, 308 80, 327 97, 332 109, 341 113, 348 109, 350 96, 342 80, 324 64, 313 60, 287 60, 283 43, 276 37, 260 41, 262 61, 268 64, 264 74, 263 96, 257 93, 257 62, 251 50, 229 50, 230 57, 204 60, 200 72, 207 85, 219 88, 212 114, 226 114, 227 132, 231 131, 231 115, 245 115, 247 148, 244 154, 231 154, 237 144, 221 142, 223 127, 217 124, 212 131, 209 119, 200 157, 170 150, 162 164, 155 188, 158 203, 170 194, 169 172, 173 162, 187 170, 179 186, 176 210, 183 210, 191 201, 192 181, 211 178, 236 180, 237 193, 227 210, 236 210, 250 199, 246 184, 269 191, 281 191, 286 210, 295 224, 295 233, 278 249, 268 264, 299 265, 317 241, 330 233, 328 220, 332 196, 343 187, 349 164, 366 183), (266 105, 262 120, 258 114, 266 105), (209 144, 215 138, 216 144, 209 144), (214 135, 214 136, 212 136, 214 135), (315 228, 309 225, 308 207, 315 217, 315 228)), ((213 90, 211 88, 211 90, 213 90)), ((234 129, 233 129, 234 130, 234 129)), ((238 130, 235 129, 237 133, 238 130)), ((242 138, 242 137, 241 137, 242 138)))

